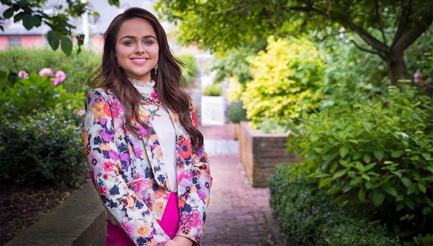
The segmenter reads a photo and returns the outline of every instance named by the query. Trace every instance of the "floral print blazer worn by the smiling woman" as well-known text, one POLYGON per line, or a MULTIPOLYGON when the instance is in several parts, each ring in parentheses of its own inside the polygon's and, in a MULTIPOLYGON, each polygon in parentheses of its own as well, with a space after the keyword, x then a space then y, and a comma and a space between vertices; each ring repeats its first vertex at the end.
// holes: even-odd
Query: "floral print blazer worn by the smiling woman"
MULTIPOLYGON (((190 102, 190 117, 197 127, 190 102)), ((177 235, 200 244, 209 205, 212 177, 204 148, 191 148, 190 136, 177 114, 168 110, 176 131, 177 198, 181 215, 177 235)), ((171 193, 161 147, 152 122, 137 138, 125 127, 124 106, 110 90, 87 93, 82 137, 92 182, 107 211, 107 220, 119 225, 135 245, 161 246, 170 239, 159 226, 171 193)))

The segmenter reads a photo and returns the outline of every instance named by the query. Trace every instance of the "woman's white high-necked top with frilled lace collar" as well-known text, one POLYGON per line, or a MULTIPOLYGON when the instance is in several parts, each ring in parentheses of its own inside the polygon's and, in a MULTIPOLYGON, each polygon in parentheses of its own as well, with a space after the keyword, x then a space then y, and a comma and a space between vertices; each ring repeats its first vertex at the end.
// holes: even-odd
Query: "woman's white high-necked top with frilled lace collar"
MULTIPOLYGON (((136 79, 128 78, 134 87, 142 94, 150 94, 155 92, 155 82, 144 82, 136 79)), ((146 108, 155 110, 154 105, 143 105, 146 108)), ((140 109, 142 109, 140 107, 140 109)), ((142 109, 143 110, 143 109, 142 109)), ((155 132, 158 135, 159 144, 161 145, 162 156, 167 167, 167 175, 170 181, 171 191, 177 191, 177 175, 176 175, 176 132, 171 121, 170 115, 164 106, 160 106, 152 124, 155 132)))

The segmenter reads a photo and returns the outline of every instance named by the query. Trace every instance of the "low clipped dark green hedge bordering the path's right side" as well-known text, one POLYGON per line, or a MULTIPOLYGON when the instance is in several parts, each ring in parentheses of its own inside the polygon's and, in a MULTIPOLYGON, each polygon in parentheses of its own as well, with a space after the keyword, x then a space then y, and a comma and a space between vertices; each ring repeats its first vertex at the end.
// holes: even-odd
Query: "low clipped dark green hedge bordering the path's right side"
POLYGON ((334 203, 317 182, 293 177, 297 164, 281 164, 270 177, 272 215, 288 245, 397 245, 378 221, 369 221, 334 203), (292 177, 289 181, 288 177, 292 177))

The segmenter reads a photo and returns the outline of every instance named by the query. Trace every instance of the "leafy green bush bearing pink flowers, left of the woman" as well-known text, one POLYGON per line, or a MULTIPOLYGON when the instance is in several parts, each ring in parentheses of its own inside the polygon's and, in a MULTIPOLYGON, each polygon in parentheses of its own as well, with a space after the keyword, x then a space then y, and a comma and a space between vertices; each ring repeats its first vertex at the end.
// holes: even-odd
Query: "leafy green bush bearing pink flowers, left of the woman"
POLYGON ((29 79, 18 79, 12 87, 0 91, 0 115, 17 119, 33 114, 34 110, 48 111, 58 104, 59 109, 75 111, 84 108, 84 97, 84 92, 66 92, 62 84, 54 86, 50 78, 32 72, 29 79))

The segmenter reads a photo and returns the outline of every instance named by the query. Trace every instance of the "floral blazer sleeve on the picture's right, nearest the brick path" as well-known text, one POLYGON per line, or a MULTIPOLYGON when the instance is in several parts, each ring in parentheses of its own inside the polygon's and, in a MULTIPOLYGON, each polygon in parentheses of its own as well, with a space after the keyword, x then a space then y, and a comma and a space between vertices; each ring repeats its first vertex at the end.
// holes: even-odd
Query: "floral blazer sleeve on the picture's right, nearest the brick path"
MULTIPOLYGON (((191 101, 189 110, 191 121, 198 129, 195 108, 191 101)), ((176 236, 189 238, 194 241, 194 246, 199 246, 205 226, 213 178, 204 146, 196 152, 193 151, 191 159, 193 160, 192 187, 186 192, 185 205, 182 206, 182 203, 180 205, 181 220, 176 236)))

